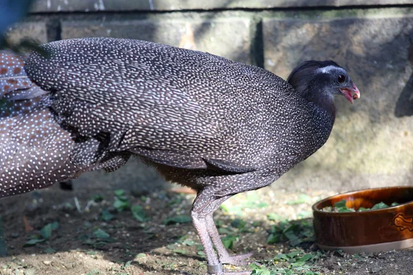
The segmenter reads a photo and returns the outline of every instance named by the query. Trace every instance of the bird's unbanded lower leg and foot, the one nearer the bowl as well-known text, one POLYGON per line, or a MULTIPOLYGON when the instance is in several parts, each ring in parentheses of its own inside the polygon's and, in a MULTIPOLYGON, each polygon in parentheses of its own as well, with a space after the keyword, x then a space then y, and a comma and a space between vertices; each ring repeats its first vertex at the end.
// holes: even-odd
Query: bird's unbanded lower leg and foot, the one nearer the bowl
POLYGON ((205 217, 205 219, 207 220, 208 234, 211 237, 213 245, 215 245, 215 250, 217 250, 218 252, 220 262, 229 263, 230 265, 238 265, 238 266, 248 265, 249 262, 245 260, 251 257, 253 253, 231 256, 228 253, 228 251, 226 251, 226 248, 221 241, 220 233, 218 232, 217 227, 215 226, 215 223, 213 222, 213 215, 208 214, 207 217, 205 217))

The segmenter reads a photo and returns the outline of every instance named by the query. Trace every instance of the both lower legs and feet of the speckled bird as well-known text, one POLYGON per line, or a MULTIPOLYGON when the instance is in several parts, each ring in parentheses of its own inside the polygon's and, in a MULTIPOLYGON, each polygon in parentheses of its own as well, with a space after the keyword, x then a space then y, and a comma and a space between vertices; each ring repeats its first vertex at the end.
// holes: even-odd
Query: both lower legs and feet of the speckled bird
POLYGON ((212 214, 223 201, 231 196, 217 198, 208 191, 209 190, 202 190, 198 192, 198 196, 195 198, 195 201, 193 202, 193 208, 191 210, 193 225, 195 226, 195 230, 198 232, 198 236, 200 237, 202 246, 204 247, 204 252, 207 256, 207 267, 209 272, 208 274, 251 274, 251 272, 222 271, 222 263, 245 265, 246 263, 242 260, 248 258, 248 256, 251 255, 240 255, 239 257, 237 257, 229 256, 228 252, 226 252, 215 223, 213 223, 212 214), (220 260, 222 259, 223 261, 218 261, 218 257, 213 250, 213 245, 215 245, 215 248, 220 255, 220 260))

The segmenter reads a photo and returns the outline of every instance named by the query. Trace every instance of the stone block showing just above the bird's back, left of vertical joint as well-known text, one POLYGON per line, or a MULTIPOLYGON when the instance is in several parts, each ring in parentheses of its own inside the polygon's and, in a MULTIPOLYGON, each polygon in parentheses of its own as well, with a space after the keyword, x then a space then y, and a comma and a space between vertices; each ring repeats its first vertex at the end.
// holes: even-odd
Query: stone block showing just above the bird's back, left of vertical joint
POLYGON ((164 43, 251 63, 250 20, 63 21, 62 39, 110 36, 164 43))

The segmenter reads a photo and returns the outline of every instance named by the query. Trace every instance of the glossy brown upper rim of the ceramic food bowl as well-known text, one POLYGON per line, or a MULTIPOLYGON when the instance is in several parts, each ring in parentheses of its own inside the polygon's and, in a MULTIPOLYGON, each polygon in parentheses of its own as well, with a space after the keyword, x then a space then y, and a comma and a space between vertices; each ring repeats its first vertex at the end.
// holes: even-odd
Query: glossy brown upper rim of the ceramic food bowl
POLYGON ((317 208, 317 206, 319 206, 319 204, 324 203, 325 201, 328 201, 334 197, 338 197, 338 196, 343 196, 343 195, 353 195, 353 194, 357 194, 358 192, 363 192, 366 190, 372 190, 372 191, 378 191, 378 190, 390 190, 390 189, 412 189, 413 190, 413 186, 389 186, 389 187, 378 187, 378 188, 364 188, 364 189, 359 189, 359 190, 353 190, 353 191, 349 191, 349 192, 343 192, 343 193, 339 193, 336 195, 332 195, 330 197, 326 197, 325 199, 321 199, 320 201, 317 201, 316 203, 313 204, 313 206, 311 206, 311 209, 313 210, 313 216, 315 213, 319 214, 319 215, 325 215, 325 216, 352 216, 352 215, 366 215, 366 214, 374 214, 375 213, 379 213, 379 212, 387 212, 388 210, 394 210, 396 208, 399 208, 401 206, 406 206, 409 204, 413 204, 413 200, 412 201, 408 201, 405 203, 401 203, 397 206, 389 206, 386 208, 379 208, 379 209, 372 209, 372 210, 364 210, 364 211, 354 211, 354 212, 328 212, 328 211, 321 211, 317 208))

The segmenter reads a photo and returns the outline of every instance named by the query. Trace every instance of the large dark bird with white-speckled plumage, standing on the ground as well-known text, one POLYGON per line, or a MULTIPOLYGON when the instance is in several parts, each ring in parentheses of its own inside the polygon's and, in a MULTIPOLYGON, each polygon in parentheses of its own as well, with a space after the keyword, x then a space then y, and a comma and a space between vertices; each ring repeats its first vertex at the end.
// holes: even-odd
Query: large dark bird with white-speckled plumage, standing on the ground
POLYGON ((226 251, 213 212, 321 148, 335 121, 335 95, 351 103, 360 97, 334 61, 304 61, 283 80, 148 41, 40 47, 43 53, 0 55, 0 197, 90 170, 112 172, 138 157, 197 192, 191 218, 208 274, 230 274, 222 264, 246 265, 251 256, 226 251))

